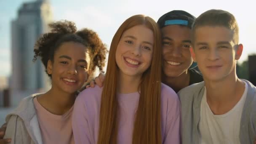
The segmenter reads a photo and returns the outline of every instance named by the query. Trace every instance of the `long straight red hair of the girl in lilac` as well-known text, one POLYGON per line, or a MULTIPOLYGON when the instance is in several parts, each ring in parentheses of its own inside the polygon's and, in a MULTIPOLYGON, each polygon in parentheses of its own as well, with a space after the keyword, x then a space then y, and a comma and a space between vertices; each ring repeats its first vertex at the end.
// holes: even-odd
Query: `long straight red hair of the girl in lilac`
POLYGON ((157 23, 144 15, 131 16, 115 33, 109 50, 107 72, 101 94, 98 144, 117 144, 118 98, 115 53, 125 30, 144 25, 154 34, 150 67, 143 73, 139 86, 140 98, 133 128, 133 144, 161 144, 161 33, 157 23))

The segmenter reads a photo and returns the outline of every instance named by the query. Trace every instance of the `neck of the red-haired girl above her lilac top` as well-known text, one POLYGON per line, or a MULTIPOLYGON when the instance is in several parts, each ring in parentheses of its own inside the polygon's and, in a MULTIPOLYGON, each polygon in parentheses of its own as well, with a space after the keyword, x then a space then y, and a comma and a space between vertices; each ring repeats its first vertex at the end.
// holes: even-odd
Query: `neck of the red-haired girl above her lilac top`
POLYGON ((118 93, 133 93, 138 91, 141 82, 140 76, 129 76, 119 72, 117 79, 117 92, 118 93))

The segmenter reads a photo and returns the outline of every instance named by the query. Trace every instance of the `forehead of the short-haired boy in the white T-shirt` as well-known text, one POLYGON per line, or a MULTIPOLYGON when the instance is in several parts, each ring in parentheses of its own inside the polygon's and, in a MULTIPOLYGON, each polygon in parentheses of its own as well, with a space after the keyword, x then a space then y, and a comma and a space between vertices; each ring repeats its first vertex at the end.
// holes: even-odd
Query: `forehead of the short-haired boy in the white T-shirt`
POLYGON ((219 41, 228 41, 233 40, 233 32, 231 29, 226 27, 212 27, 204 26, 198 27, 195 29, 195 42, 208 42, 214 43, 219 41))

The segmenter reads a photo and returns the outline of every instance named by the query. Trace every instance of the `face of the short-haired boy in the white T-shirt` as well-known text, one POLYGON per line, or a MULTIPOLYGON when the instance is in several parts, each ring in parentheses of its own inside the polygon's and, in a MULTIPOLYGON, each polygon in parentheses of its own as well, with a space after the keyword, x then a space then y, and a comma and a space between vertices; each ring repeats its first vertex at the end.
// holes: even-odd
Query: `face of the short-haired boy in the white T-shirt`
POLYGON ((235 75, 235 64, 243 45, 236 45, 233 32, 226 27, 203 26, 195 30, 195 48, 192 56, 205 80, 223 80, 235 75))

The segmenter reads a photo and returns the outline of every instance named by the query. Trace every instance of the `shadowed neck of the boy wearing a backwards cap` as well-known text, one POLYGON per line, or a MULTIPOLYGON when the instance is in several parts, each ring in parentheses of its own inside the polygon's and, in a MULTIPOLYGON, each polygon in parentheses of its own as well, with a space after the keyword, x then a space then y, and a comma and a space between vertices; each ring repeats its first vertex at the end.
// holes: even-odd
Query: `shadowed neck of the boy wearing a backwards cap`
POLYGON ((167 75, 163 74, 162 81, 165 85, 168 85, 176 93, 178 93, 182 88, 189 86, 189 77, 189 72, 187 70, 178 77, 168 77, 167 75))

